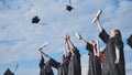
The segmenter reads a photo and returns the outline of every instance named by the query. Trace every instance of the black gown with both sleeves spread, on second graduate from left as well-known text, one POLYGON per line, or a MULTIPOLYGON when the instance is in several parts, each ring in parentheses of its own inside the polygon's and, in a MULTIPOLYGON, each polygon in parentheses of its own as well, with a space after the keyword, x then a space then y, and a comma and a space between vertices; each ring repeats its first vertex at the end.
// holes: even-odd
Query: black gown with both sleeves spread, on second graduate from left
POLYGON ((53 67, 57 69, 57 75, 68 75, 68 63, 70 60, 72 53, 68 53, 68 56, 63 63, 56 62, 55 60, 51 58, 50 63, 53 67))

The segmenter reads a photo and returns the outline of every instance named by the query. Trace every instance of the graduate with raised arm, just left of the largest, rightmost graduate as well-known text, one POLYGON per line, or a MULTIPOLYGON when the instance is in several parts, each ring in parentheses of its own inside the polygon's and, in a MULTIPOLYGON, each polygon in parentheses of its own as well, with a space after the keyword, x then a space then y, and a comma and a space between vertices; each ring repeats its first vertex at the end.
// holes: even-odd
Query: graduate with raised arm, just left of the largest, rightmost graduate
POLYGON ((101 63, 99 61, 99 50, 97 47, 96 41, 91 41, 90 43, 87 42, 82 36, 79 34, 79 40, 86 44, 86 50, 89 51, 89 69, 88 75, 101 75, 101 63))

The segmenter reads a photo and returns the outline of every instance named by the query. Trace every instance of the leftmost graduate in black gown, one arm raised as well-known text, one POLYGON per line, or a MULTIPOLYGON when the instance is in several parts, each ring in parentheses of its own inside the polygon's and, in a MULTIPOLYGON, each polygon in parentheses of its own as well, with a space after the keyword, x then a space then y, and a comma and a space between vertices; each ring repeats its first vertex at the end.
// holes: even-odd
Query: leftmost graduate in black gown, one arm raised
POLYGON ((54 75, 50 61, 44 63, 44 56, 42 52, 40 52, 40 75, 54 75))

